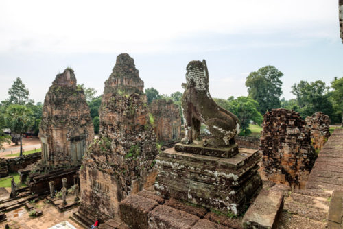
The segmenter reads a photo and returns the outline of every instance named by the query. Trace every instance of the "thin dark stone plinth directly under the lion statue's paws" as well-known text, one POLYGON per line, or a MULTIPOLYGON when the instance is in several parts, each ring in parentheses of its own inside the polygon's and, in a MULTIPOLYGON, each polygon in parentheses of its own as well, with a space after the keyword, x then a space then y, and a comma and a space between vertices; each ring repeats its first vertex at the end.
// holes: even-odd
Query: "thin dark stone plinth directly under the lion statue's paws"
POLYGON ((177 143, 175 145, 175 150, 177 152, 185 152, 190 154, 200 154, 207 156, 215 156, 220 158, 231 158, 238 154, 238 145, 233 144, 229 147, 224 148, 214 148, 214 147, 204 147, 202 143, 195 144, 191 143, 189 145, 177 143))

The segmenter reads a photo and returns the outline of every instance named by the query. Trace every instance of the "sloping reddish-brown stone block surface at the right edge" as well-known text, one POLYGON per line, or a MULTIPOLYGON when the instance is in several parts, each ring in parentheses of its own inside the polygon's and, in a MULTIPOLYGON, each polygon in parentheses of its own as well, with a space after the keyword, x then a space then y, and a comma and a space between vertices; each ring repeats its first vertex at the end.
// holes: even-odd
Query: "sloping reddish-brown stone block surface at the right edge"
POLYGON ((343 190, 343 129, 335 129, 320 151, 306 188, 343 190))

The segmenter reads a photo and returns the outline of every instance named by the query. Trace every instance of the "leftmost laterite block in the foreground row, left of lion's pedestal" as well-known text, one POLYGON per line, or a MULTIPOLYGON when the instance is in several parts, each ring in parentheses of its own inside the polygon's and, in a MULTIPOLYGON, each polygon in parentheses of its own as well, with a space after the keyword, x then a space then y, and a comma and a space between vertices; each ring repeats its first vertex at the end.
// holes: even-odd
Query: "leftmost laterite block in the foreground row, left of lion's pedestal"
POLYGON ((120 218, 132 228, 148 228, 147 214, 158 206, 155 200, 139 195, 130 195, 119 204, 120 218))

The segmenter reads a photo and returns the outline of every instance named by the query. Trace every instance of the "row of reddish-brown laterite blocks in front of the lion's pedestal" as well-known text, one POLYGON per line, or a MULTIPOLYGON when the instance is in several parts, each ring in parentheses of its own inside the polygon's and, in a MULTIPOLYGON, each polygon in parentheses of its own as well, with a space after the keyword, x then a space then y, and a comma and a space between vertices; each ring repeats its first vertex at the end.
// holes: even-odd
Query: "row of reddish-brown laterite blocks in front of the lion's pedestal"
POLYGON ((150 191, 130 195, 119 208, 121 221, 134 229, 242 228, 241 217, 230 218, 173 198, 164 200, 150 191))

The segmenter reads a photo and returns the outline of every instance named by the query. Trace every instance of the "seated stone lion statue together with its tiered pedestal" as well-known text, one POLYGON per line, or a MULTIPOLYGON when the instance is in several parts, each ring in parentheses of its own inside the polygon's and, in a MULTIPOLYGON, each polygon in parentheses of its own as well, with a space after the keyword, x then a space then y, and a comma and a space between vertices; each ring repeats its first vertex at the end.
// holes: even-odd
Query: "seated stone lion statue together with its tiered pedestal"
POLYGON ((211 98, 206 62, 189 62, 186 80, 185 138, 156 159, 155 190, 164 198, 240 214, 261 188, 259 154, 235 143, 239 121, 211 98), (211 132, 204 139, 199 139, 201 123, 211 132))

